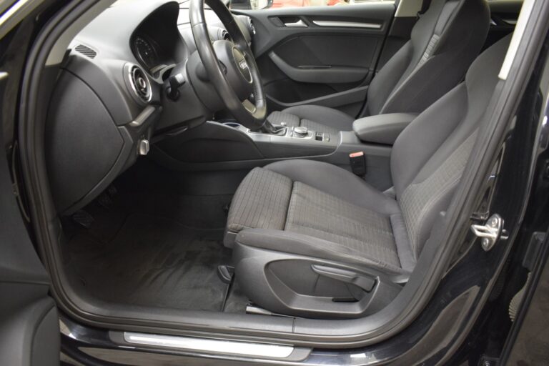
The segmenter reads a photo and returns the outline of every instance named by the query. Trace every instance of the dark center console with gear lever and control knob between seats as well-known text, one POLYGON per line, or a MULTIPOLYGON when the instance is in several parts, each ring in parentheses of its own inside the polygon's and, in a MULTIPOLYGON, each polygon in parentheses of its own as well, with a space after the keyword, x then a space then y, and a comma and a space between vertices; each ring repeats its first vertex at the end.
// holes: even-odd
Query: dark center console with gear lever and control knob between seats
POLYGON ((155 142, 162 163, 178 170, 252 169, 285 159, 315 159, 351 170, 349 154, 365 157, 365 181, 377 189, 391 186, 390 152, 385 144, 360 141, 353 131, 323 133, 306 127, 274 126, 253 132, 236 122, 206 122, 155 142))

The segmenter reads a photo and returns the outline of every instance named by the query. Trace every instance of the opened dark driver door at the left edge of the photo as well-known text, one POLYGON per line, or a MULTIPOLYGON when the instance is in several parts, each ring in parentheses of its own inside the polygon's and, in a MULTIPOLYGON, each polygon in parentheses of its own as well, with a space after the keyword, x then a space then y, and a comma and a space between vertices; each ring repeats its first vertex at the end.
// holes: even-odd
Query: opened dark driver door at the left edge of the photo
MULTIPOLYGON (((0 70, 0 96, 8 74, 0 70)), ((2 121, 4 122, 4 121, 2 121)), ((4 142, 1 136, 0 141, 4 142)), ((4 147, 4 144, 2 144, 4 147)), ((26 231, 0 153, 0 365, 59 365, 59 319, 49 277, 26 231)))

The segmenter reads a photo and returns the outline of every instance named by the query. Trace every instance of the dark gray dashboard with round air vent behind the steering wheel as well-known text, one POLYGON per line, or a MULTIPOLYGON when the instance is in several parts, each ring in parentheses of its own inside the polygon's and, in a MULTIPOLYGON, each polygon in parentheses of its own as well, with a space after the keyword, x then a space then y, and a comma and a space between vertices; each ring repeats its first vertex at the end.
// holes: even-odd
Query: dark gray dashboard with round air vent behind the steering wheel
MULTIPOLYGON (((214 12, 204 11, 212 41, 230 39, 214 12)), ((247 18, 234 18, 251 42, 247 18)), ((194 52, 188 2, 117 1, 80 31, 61 65, 46 121, 58 212, 71 214, 98 197, 155 140, 212 118, 190 82, 179 87, 177 101, 166 97, 167 79, 184 74, 194 52)))

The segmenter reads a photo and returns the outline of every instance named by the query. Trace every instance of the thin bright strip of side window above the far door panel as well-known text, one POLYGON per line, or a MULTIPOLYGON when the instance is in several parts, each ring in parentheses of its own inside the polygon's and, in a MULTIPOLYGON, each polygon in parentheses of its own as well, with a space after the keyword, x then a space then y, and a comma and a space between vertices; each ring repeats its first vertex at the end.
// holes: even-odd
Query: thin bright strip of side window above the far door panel
POLYGON ((394 0, 231 0, 230 9, 278 9, 303 6, 346 6, 372 2, 393 2, 394 0))

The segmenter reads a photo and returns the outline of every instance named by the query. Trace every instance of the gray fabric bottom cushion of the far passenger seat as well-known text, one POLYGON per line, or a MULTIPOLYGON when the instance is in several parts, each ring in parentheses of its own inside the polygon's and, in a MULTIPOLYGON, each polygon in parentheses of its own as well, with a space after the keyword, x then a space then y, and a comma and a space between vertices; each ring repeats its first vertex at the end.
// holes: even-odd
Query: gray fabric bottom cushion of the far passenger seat
POLYGON ((303 126, 315 132, 337 134, 340 131, 351 131, 353 117, 337 109, 322 106, 297 106, 285 109, 282 112, 275 111, 267 117, 272 124, 282 124, 297 127, 303 126))

